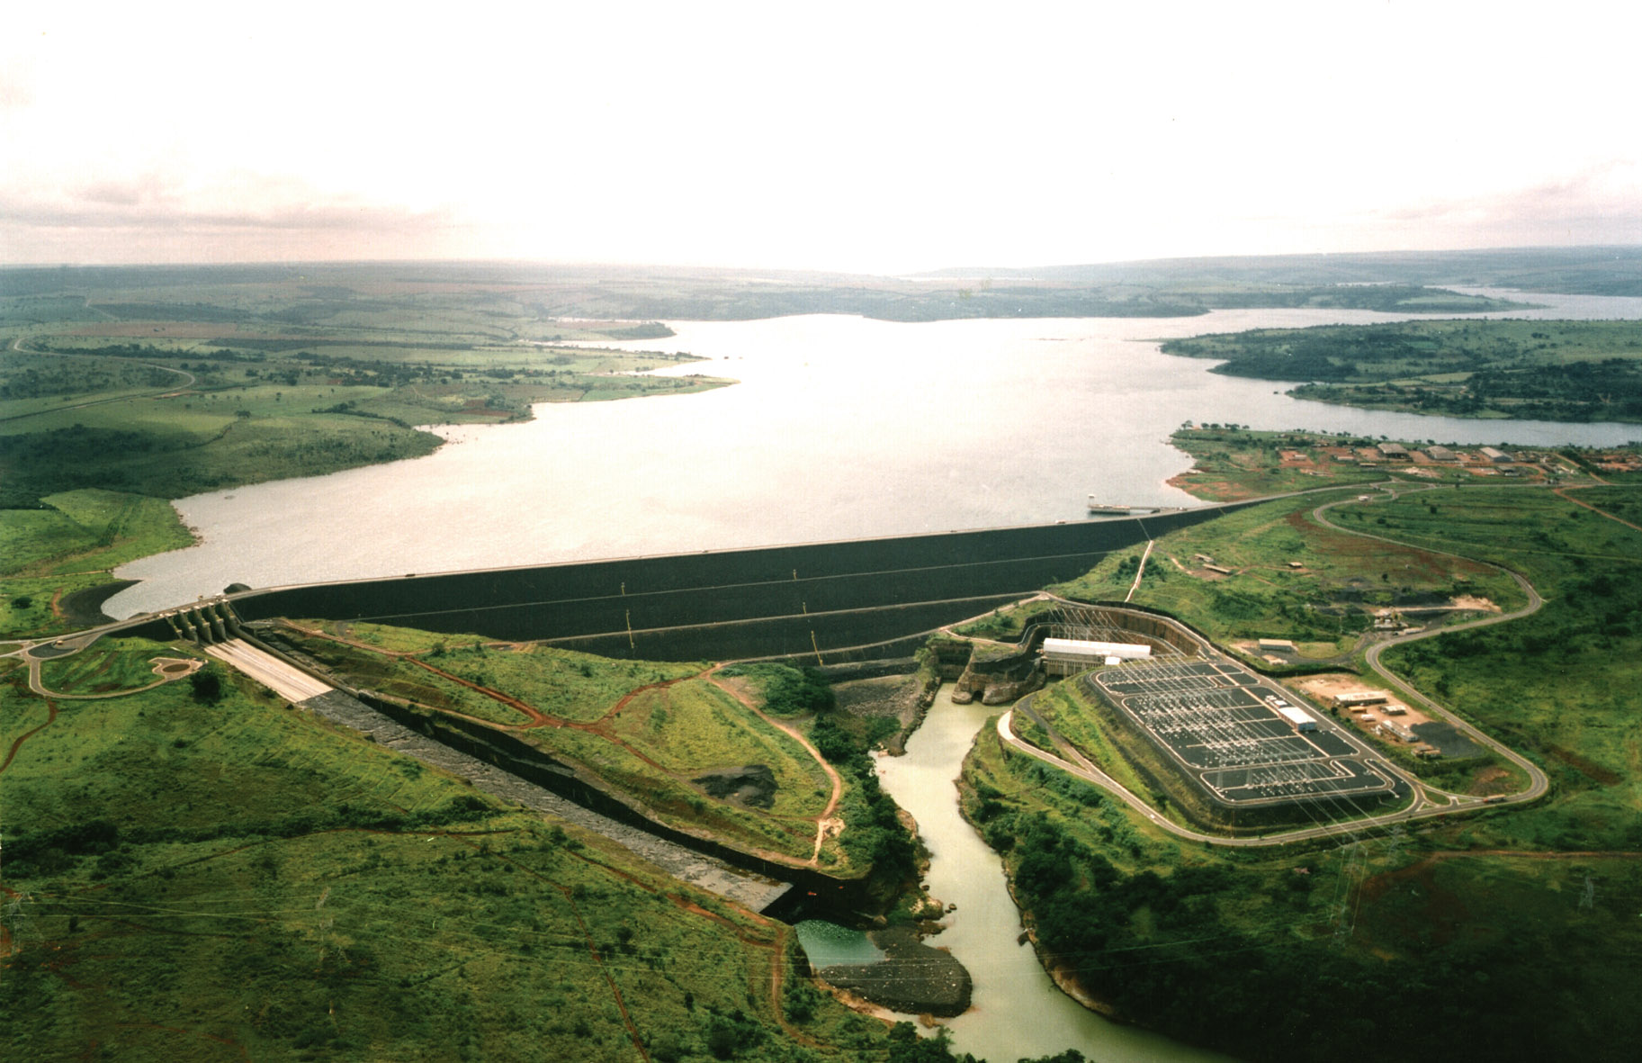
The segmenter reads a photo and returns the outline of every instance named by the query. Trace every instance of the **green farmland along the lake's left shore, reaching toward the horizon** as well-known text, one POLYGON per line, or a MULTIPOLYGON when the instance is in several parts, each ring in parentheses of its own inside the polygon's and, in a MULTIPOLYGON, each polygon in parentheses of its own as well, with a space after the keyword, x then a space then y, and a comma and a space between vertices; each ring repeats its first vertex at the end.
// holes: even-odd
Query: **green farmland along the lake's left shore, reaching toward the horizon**
POLYGON ((92 271, 74 281, 113 284, 95 297, 0 296, 0 636, 84 626, 61 596, 187 545, 166 499, 422 457, 442 440, 419 426, 734 383, 645 375, 691 355, 568 347, 672 330, 562 322, 517 291, 210 273, 92 271))

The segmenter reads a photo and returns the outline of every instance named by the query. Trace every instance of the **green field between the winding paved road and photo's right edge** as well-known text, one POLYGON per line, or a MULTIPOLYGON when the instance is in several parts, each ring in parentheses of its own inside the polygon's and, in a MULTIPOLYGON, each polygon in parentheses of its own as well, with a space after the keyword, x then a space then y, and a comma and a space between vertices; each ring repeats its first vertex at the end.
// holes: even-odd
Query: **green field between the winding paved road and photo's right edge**
POLYGON ((1458 495, 1389 504, 1391 534, 1496 559, 1534 582, 1545 608, 1401 647, 1386 664, 1552 775, 1557 798, 1501 820, 1494 843, 1642 848, 1642 532, 1548 491, 1458 495))

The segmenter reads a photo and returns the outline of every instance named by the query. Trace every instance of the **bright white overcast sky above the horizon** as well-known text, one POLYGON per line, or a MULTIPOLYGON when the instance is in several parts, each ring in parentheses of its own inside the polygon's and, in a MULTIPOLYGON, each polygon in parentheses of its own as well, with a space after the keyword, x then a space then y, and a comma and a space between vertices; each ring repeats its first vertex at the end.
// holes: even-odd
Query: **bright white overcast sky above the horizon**
POLYGON ((1634 245, 1639 28, 1581 0, 13 0, 0 263, 1634 245))

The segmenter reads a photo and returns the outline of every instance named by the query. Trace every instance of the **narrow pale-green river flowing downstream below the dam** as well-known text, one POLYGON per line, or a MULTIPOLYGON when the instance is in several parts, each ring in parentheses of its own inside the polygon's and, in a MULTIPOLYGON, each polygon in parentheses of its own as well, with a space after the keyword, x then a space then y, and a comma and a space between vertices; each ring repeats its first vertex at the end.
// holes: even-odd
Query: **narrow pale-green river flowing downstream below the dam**
POLYGON ((954 705, 951 692, 941 688, 923 726, 908 739, 906 756, 878 759, 878 775, 890 797, 918 820, 933 854, 931 895, 957 905, 944 920, 947 928, 926 940, 949 948, 975 982, 974 1007, 944 1020, 954 1048, 990 1063, 1067 1048, 1100 1063, 1225 1060, 1102 1019, 1056 989, 1030 943, 1016 945, 1023 925, 1003 863, 959 815, 954 782, 975 733, 1000 710, 954 705))

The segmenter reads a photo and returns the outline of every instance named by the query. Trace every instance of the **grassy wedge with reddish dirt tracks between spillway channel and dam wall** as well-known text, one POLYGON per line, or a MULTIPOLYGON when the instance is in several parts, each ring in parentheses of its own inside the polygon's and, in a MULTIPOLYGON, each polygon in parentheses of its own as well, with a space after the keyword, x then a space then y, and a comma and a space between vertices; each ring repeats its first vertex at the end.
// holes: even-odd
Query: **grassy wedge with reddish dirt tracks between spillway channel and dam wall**
MULTIPOLYGON (((312 626, 287 628, 282 637, 348 685, 512 728, 675 826, 783 859, 814 854, 816 820, 831 797, 826 771, 791 736, 698 677, 706 664, 609 660, 384 626, 350 624, 353 642, 299 634, 312 626), (356 644, 365 641, 383 649, 356 644), (701 782, 749 766, 768 771, 767 803, 714 797, 701 782)), ((867 871, 851 866, 837 838, 819 858, 831 871, 867 871)))

